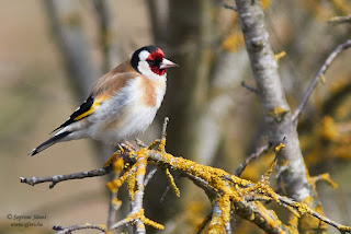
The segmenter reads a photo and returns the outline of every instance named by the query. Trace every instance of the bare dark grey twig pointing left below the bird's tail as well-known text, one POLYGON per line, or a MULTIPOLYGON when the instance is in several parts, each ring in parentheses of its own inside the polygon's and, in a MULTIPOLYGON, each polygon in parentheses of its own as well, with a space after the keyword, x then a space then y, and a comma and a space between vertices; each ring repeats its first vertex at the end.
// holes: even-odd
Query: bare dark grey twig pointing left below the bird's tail
POLYGON ((41 183, 50 182, 49 188, 54 188, 54 186, 60 182, 71 180, 71 179, 82 179, 87 177, 95 177, 95 176, 103 176, 111 173, 111 166, 105 166, 98 169, 92 169, 88 172, 80 172, 80 173, 72 173, 67 175, 55 175, 48 177, 20 177, 21 183, 25 183, 29 185, 36 185, 41 183))

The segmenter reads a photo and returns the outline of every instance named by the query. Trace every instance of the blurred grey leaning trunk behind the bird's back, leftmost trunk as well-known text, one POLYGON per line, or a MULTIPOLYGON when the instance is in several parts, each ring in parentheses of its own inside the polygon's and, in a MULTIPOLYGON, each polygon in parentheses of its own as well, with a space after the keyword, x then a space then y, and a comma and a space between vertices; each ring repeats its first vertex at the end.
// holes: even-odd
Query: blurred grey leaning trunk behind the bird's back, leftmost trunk
POLYGON ((81 27, 79 5, 70 1, 44 1, 50 30, 63 55, 65 69, 79 102, 87 98, 98 70, 92 66, 89 45, 81 27))

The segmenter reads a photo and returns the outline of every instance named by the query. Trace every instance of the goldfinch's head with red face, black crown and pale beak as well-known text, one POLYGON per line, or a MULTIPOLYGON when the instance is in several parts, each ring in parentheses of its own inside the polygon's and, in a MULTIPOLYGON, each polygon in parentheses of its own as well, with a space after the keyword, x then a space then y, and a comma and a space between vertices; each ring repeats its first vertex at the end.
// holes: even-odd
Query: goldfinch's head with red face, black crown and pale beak
POLYGON ((177 67, 165 58, 165 54, 156 46, 144 46, 133 52, 131 63, 139 73, 152 78, 166 77, 167 68, 177 67))

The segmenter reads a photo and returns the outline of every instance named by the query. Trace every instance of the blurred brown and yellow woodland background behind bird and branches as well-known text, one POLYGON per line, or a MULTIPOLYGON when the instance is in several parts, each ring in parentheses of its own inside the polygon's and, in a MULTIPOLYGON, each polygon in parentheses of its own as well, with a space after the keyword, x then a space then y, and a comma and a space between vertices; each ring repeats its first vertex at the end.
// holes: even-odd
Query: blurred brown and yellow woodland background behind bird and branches
MULTIPOLYGON (((220 0, 2 0, 0 9, 0 233, 52 233, 53 225, 106 223, 109 177, 31 187, 19 177, 53 176, 101 167, 112 149, 91 140, 56 144, 30 157, 87 97, 93 82, 137 48, 155 44, 180 67, 168 72, 157 119, 140 137, 150 143, 169 116, 167 151, 228 172, 264 144, 264 122, 237 14, 220 0), (41 215, 43 226, 15 227, 14 215, 41 215), (11 226, 12 225, 12 226, 11 226)), ((328 24, 347 15, 347 0, 262 0, 265 23, 280 60, 286 97, 294 109, 327 56, 351 37, 351 25, 328 24)), ((340 187, 319 183, 327 217, 351 223, 351 51, 344 51, 318 84, 298 132, 312 175, 330 173, 340 187)), ((272 155, 250 164, 257 180, 272 155)), ((146 188, 146 215, 162 233, 194 233, 211 211, 205 194, 179 179, 181 198, 169 192, 162 173, 146 188)), ((273 182, 272 182, 273 183, 273 182)), ((120 195, 123 197, 123 194, 120 195)), ((274 208, 274 207, 273 207, 274 208)), ((118 218, 125 217, 128 206, 118 218)), ((286 211, 278 210, 283 221, 286 211)), ((235 218, 234 230, 262 233, 235 218)), ((330 233, 335 230, 330 227, 330 233)), ((148 232, 156 232, 149 229, 148 232)), ((84 233, 97 233, 88 232, 84 233)))

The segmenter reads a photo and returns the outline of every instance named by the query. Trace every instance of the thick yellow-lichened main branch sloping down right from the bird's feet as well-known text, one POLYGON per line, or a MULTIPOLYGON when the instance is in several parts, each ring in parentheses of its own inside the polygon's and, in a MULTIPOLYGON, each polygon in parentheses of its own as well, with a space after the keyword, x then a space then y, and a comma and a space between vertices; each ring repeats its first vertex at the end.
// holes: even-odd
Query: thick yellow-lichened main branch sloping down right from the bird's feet
MULTIPOLYGON (((238 178, 219 168, 200 165, 193 161, 182 157, 174 157, 171 154, 166 153, 163 150, 147 150, 145 152, 143 150, 143 154, 144 153, 146 153, 150 163, 181 172, 182 174, 188 175, 186 177, 192 179, 195 185, 199 185, 201 188, 206 187, 206 190, 212 191, 208 194, 216 194, 216 196, 212 196, 212 198, 218 199, 217 202, 222 210, 222 215, 216 217, 216 220, 219 221, 223 226, 213 225, 215 231, 229 229, 227 223, 230 221, 231 210, 238 212, 238 214, 244 219, 252 220, 252 218, 254 218, 256 224, 267 232, 279 233, 282 230, 285 230, 279 219, 267 219, 267 212, 270 213, 271 211, 267 210, 264 207, 258 209, 252 202, 241 199, 247 192, 249 192, 244 188, 253 187, 253 183, 238 178), (238 188, 242 188, 244 194, 240 194, 238 188)), ((140 151, 123 154, 124 157, 127 157, 124 159, 124 161, 131 161, 133 159, 135 161, 135 159, 138 157, 138 154, 140 154, 140 151)))

